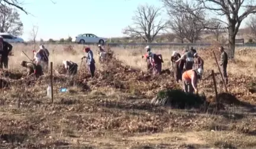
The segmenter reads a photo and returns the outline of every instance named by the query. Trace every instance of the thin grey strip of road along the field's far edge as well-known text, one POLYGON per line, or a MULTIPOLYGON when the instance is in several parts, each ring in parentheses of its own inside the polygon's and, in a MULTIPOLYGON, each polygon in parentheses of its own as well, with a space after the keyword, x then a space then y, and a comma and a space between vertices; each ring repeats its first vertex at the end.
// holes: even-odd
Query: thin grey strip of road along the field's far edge
MULTIPOLYGON (((28 45, 34 44, 34 43, 25 43, 28 45)), ((37 43, 40 44, 40 43, 37 43)), ((77 44, 77 43, 43 43, 43 44, 77 44)), ((106 43, 110 46, 192 46, 192 47, 198 47, 198 46, 212 46, 210 43, 106 43)), ((98 45, 98 44, 88 44, 85 43, 84 45, 98 45)), ((222 46, 228 46, 228 44, 223 44, 222 46)), ((236 44, 236 47, 256 47, 256 44, 236 44)))

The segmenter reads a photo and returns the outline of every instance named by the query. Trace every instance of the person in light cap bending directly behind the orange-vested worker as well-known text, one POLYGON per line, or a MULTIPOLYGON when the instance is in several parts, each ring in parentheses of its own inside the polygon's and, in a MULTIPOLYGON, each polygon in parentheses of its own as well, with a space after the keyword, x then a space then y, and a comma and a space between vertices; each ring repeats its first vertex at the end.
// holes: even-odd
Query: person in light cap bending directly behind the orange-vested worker
POLYGON ((193 69, 194 64, 194 55, 193 51, 185 50, 184 54, 180 57, 180 59, 176 60, 176 63, 179 63, 181 60, 185 61, 185 70, 193 69))

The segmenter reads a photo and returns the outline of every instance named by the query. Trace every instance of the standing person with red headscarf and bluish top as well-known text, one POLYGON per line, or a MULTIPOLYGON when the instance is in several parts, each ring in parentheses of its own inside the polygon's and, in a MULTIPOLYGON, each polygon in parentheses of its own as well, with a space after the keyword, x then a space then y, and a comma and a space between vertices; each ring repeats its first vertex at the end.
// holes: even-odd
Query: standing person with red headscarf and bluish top
POLYGON ((87 53, 87 56, 82 57, 82 60, 85 58, 87 59, 86 61, 87 61, 89 73, 91 73, 91 77, 94 77, 95 60, 93 58, 92 50, 89 47, 85 47, 84 52, 87 53))

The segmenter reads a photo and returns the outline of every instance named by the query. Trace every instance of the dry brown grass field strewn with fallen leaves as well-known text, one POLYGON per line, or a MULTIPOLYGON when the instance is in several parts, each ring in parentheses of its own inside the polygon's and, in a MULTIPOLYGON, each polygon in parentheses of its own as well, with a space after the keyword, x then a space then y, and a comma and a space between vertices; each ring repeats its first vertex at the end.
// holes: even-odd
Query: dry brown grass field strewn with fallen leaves
MULTIPOLYGON (((82 64, 78 79, 72 80, 56 71, 60 72, 59 64, 65 59, 80 66, 83 46, 46 44, 56 70, 52 104, 46 97, 49 74, 38 80, 21 79, 20 62, 29 61, 22 51, 31 58, 33 46, 13 46, 9 70, 1 70, 9 88, 0 90, 0 148, 256 148, 254 49, 236 49, 235 61, 228 64, 228 93, 222 93, 213 58, 215 51, 219 60, 216 46, 197 49, 205 61, 199 92, 209 104, 178 109, 151 104, 160 90, 181 89, 181 85, 172 72, 146 73, 143 47, 113 47, 116 59, 100 65, 97 47, 91 46, 97 63, 95 78, 88 77, 82 64), (211 70, 216 72, 218 104, 211 70), (68 92, 60 93, 61 86, 68 92)), ((162 54, 166 70, 172 51, 181 49, 156 47, 152 51, 162 54)))

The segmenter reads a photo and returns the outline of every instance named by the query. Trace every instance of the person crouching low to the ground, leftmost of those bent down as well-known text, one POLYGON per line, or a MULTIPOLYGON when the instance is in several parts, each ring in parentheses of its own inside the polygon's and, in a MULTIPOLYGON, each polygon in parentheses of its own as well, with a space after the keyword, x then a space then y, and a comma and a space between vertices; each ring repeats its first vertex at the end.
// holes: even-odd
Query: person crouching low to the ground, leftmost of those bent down
POLYGON ((36 65, 31 62, 22 61, 21 66, 27 68, 27 77, 32 76, 32 74, 35 74, 36 77, 43 75, 43 69, 40 64, 36 65))

